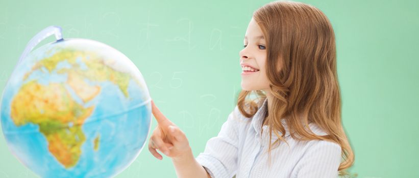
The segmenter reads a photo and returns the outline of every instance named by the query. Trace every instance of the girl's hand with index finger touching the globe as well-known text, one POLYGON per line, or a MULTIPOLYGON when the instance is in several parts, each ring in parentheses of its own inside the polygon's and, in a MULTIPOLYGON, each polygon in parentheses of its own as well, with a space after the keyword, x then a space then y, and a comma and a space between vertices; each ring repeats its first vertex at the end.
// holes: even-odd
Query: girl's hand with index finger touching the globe
POLYGON ((152 113, 154 117, 156 117, 158 124, 149 141, 149 151, 151 154, 159 160, 163 159, 163 157, 156 149, 176 160, 181 159, 188 154, 192 154, 185 133, 160 112, 153 100, 151 103, 152 113))

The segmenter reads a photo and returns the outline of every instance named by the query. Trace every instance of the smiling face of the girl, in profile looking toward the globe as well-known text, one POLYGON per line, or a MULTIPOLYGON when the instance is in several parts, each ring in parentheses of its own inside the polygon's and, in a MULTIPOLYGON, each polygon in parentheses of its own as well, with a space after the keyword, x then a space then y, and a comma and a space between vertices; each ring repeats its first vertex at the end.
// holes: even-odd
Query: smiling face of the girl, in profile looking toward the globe
POLYGON ((269 81, 266 77, 266 42, 263 33, 257 22, 252 18, 244 36, 244 49, 239 52, 241 73, 241 88, 245 91, 269 90, 269 81), (244 66, 252 66, 255 72, 244 72, 248 70, 244 66))

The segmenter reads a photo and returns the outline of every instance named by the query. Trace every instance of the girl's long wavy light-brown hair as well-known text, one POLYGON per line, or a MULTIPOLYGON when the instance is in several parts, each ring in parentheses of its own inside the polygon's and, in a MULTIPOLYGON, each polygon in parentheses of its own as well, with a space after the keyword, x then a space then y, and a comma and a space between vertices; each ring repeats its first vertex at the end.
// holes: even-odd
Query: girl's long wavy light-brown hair
MULTIPOLYGON (((285 141, 285 128, 279 118, 286 118, 294 139, 339 144, 343 160, 338 168, 339 175, 347 175, 346 169, 354 163, 354 153, 341 123, 336 45, 331 23, 321 10, 292 1, 268 3, 257 9, 253 18, 266 39, 265 68, 270 93, 274 96, 269 101, 274 109, 264 120, 264 125, 269 126, 269 138, 273 131, 278 136, 274 143, 269 139, 269 157, 271 146, 285 141), (309 123, 315 123, 327 135, 316 135, 304 129, 309 123)), ((262 91, 241 91, 237 106, 246 117, 252 117, 259 105, 247 99, 252 92, 261 100, 266 98, 262 91)))

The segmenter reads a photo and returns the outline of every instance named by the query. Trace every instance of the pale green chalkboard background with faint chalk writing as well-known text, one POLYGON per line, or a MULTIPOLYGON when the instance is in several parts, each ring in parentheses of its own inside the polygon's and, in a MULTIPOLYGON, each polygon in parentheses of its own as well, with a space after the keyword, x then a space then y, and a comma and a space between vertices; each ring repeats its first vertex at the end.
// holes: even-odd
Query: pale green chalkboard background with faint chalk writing
MULTIPOLYGON (((64 38, 93 39, 127 55, 198 156, 235 106, 244 33, 252 12, 268 2, 0 0, 0 91, 28 41, 59 25, 64 38)), ((342 119, 355 152, 351 172, 419 177, 419 1, 302 2, 321 9, 335 30, 342 119)), ((3 135, 0 177, 36 177, 3 135)), ((157 160, 144 147, 117 177, 176 173, 169 158, 157 160)))

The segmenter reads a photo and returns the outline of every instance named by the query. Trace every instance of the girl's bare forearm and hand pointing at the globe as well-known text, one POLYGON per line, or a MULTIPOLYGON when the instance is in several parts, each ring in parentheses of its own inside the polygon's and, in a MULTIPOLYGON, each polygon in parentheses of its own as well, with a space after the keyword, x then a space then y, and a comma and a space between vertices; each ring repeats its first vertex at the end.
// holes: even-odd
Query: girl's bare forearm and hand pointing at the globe
POLYGON ((149 151, 157 159, 163 157, 157 153, 157 149, 170 157, 180 178, 188 177, 210 177, 204 167, 193 157, 189 141, 185 133, 174 123, 168 120, 156 107, 152 100, 152 112, 157 120, 157 127, 154 129, 149 142, 149 151))

